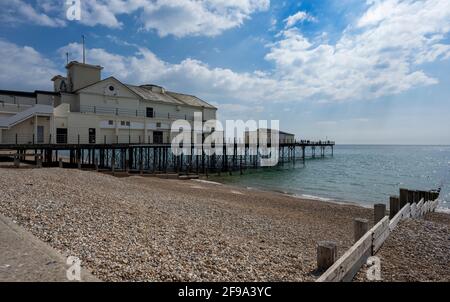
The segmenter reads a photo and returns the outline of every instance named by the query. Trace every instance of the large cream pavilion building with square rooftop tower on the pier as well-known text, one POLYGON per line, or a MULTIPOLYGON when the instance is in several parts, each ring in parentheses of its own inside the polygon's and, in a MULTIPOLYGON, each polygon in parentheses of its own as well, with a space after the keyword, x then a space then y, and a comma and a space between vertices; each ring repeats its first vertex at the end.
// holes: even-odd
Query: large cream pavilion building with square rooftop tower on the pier
POLYGON ((166 144, 175 120, 215 120, 217 108, 157 85, 101 79, 102 67, 71 62, 54 91, 0 91, 0 144, 166 144))

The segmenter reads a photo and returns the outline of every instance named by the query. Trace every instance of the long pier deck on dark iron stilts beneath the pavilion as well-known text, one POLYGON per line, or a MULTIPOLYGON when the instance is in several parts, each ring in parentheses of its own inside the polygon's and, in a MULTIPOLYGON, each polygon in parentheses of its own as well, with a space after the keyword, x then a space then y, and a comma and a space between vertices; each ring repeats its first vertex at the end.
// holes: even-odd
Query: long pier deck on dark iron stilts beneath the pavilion
MULTIPOLYGON (((281 142, 278 166, 333 156, 334 146, 333 141, 281 142)), ((176 156, 171 144, 8 144, 0 145, 0 161, 14 161, 15 166, 24 162, 37 167, 179 175, 243 173, 246 169, 261 167, 259 145, 235 142, 218 147, 223 148, 221 155, 208 155, 203 145, 192 144, 191 155, 176 156)))

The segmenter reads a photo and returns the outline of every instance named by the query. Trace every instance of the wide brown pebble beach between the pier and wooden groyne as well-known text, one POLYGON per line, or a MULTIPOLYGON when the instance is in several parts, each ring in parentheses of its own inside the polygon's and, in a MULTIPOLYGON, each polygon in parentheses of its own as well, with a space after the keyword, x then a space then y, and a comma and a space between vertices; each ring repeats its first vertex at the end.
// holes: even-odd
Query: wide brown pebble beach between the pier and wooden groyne
POLYGON ((103 281, 314 281, 317 243, 340 256, 353 219, 373 219, 357 205, 80 170, 0 169, 0 192, 1 214, 103 281))

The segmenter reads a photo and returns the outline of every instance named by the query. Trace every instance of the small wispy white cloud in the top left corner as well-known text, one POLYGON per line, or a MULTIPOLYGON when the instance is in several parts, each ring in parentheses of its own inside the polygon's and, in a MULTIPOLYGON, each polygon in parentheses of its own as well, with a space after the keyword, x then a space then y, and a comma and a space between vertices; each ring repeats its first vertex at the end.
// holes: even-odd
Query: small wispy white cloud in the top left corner
POLYGON ((66 25, 64 20, 50 17, 42 9, 35 9, 31 4, 22 0, 0 1, 0 22, 9 25, 31 23, 48 27, 66 25))

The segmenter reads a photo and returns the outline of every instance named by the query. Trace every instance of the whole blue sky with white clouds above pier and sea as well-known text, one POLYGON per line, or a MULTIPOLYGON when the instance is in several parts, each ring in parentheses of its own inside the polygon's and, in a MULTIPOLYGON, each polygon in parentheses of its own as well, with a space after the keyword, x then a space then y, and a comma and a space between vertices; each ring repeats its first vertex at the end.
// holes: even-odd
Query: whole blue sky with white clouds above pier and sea
POLYGON ((301 139, 450 144, 449 0, 0 0, 0 89, 66 53, 301 139), (73 20, 80 3, 80 19, 73 20))

